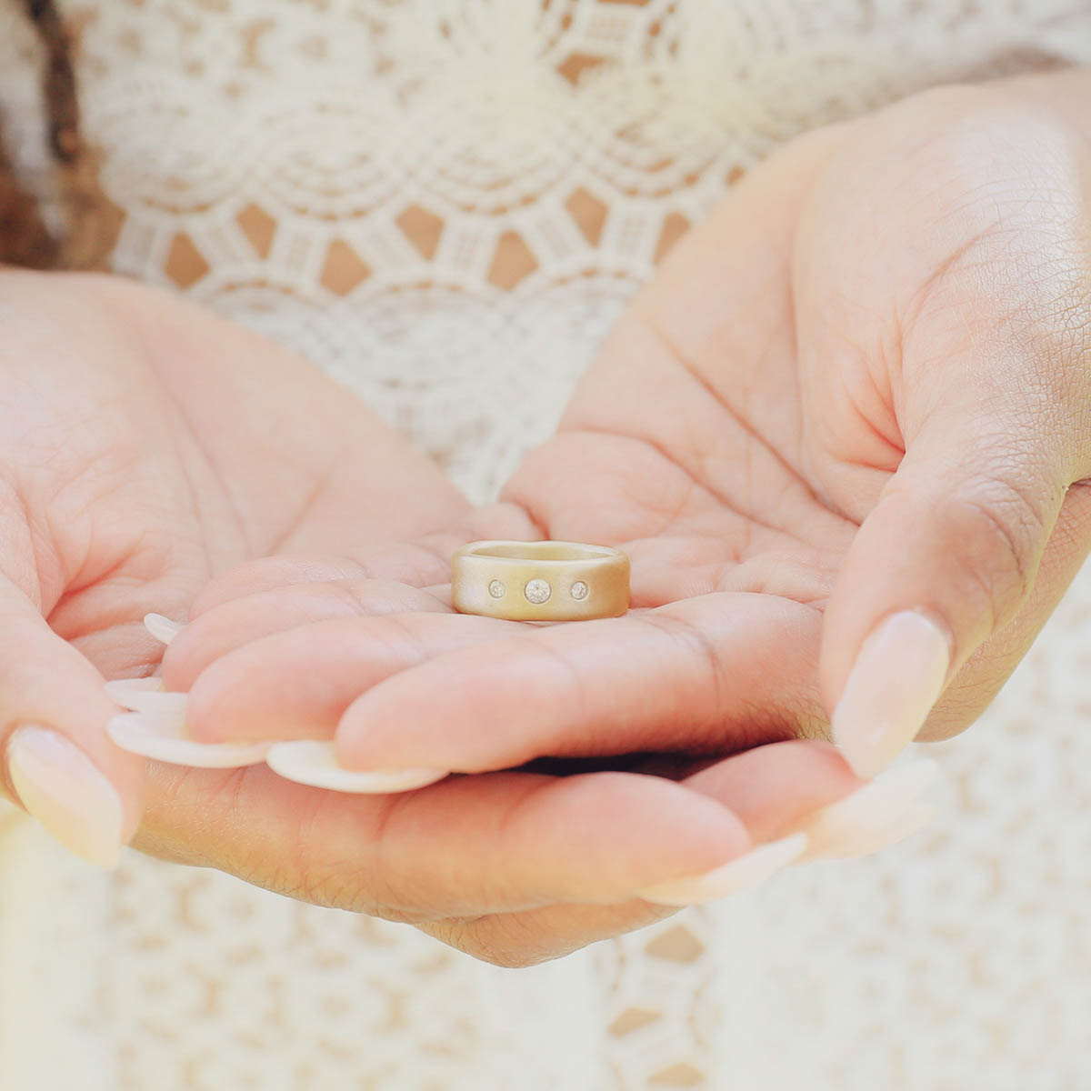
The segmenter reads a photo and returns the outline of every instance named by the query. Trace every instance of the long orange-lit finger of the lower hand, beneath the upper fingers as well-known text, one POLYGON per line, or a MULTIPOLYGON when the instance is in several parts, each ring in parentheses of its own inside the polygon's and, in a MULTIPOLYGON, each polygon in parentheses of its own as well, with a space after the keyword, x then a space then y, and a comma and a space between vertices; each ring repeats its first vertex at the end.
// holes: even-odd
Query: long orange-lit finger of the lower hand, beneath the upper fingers
POLYGON ((727 807, 658 777, 504 772, 346 796, 260 766, 227 775, 153 768, 165 788, 141 848, 393 920, 625 901, 750 848, 727 807), (183 834, 175 830, 179 808, 193 815, 183 834))

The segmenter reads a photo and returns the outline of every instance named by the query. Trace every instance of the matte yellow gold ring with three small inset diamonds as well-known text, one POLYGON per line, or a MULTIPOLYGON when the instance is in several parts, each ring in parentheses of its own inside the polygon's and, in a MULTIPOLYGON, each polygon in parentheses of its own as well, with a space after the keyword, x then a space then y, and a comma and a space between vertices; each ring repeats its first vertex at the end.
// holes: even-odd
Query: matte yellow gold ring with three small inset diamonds
POLYGON ((586 621, 628 610, 628 558, 584 542, 470 542, 451 561, 459 613, 509 621, 586 621))

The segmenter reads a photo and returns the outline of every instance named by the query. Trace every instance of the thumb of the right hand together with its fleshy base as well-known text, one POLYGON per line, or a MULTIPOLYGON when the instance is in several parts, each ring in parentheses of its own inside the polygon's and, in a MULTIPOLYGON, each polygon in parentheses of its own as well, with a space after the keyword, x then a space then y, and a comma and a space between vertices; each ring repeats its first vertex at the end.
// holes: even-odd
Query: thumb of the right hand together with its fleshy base
POLYGON ((862 524, 827 611, 823 692, 864 776, 922 729, 950 726, 940 696, 1038 613, 1042 575, 1070 578, 1089 544, 1074 532, 1084 500, 1066 499, 1091 472, 1082 149, 1018 106, 1000 125, 937 128, 936 105, 895 108, 909 130, 928 129, 906 161, 889 134, 909 130, 861 130, 864 160, 897 163, 898 185, 909 180, 890 232, 862 230, 854 179, 867 175, 840 160, 796 252, 812 455, 834 454, 826 491, 862 524), (860 238, 854 262, 831 271, 829 247, 848 236, 860 238), (1058 572, 1043 573, 1057 532, 1058 572))

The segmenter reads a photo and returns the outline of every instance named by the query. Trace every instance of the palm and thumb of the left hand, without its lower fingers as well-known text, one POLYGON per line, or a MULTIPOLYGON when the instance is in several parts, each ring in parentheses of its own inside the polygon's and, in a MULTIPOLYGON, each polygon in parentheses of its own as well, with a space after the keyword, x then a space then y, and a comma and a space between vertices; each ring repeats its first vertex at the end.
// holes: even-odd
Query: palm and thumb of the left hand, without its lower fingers
POLYGON ((249 558, 379 548, 468 504, 313 369, 159 292, 0 271, 0 780, 109 864, 145 786, 103 678, 157 662, 142 615, 249 558))

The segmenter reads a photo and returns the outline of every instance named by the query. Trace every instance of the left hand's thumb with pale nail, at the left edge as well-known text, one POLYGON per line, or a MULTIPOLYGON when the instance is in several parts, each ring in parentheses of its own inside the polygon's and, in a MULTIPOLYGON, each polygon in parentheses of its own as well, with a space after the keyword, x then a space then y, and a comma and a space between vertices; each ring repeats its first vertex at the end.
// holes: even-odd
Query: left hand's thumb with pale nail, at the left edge
POLYGON ((140 823, 143 762, 115 746, 103 678, 0 577, 3 788, 72 852, 110 867, 140 823))

